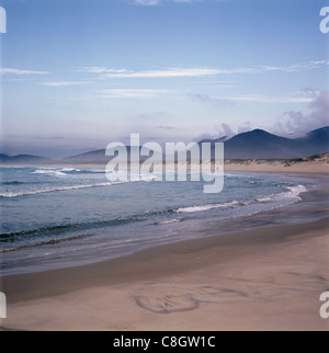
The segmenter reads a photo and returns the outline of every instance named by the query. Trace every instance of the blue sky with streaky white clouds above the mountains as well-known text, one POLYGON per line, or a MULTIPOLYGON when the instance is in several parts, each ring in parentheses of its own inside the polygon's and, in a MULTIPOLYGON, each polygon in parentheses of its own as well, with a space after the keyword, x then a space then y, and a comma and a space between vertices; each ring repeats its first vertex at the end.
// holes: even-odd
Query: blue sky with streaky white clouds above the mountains
MULTIPOLYGON (((328 4, 328 3, 327 3, 328 4)), ((328 123, 322 0, 0 0, 2 152, 328 123)))

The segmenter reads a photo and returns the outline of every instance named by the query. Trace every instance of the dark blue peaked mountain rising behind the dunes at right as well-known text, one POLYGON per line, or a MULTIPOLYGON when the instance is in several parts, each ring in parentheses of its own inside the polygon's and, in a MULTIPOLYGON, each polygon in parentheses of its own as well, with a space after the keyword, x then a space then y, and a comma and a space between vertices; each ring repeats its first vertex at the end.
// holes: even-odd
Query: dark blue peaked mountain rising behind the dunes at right
MULTIPOLYGON (((215 144, 217 140, 212 140, 215 144)), ((300 138, 286 138, 262 129, 243 133, 225 141, 226 159, 290 159, 329 151, 329 127, 300 138)), ((212 156, 214 158, 214 155, 212 156)))

